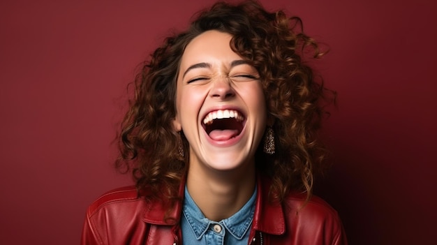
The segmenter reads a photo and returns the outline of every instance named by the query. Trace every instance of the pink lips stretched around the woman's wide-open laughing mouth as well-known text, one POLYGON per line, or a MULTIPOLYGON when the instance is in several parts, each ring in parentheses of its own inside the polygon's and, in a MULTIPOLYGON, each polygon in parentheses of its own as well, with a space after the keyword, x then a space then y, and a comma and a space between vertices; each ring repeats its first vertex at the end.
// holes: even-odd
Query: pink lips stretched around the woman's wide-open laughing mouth
POLYGON ((215 147, 230 147, 234 144, 237 144, 237 142, 239 142, 239 140, 242 139, 245 131, 246 131, 246 121, 247 121, 247 117, 246 117, 246 112, 244 110, 242 110, 239 107, 232 107, 232 106, 220 106, 220 107, 214 107, 214 108, 210 108, 209 110, 207 110, 207 112, 202 114, 202 117, 200 117, 200 128, 202 128, 202 134, 205 136, 205 138, 207 139, 207 142, 209 142, 209 144, 212 144, 215 147), (244 117, 244 120, 242 121, 242 124, 244 124, 242 131, 239 133, 239 135, 237 135, 234 138, 230 138, 229 140, 212 140, 212 138, 209 137, 209 135, 207 134, 207 132, 205 131, 205 127, 203 124, 203 119, 205 119, 205 117, 207 116, 207 114, 209 114, 210 112, 214 112, 216 110, 236 110, 237 112, 239 112, 240 114, 242 114, 242 116, 244 117))

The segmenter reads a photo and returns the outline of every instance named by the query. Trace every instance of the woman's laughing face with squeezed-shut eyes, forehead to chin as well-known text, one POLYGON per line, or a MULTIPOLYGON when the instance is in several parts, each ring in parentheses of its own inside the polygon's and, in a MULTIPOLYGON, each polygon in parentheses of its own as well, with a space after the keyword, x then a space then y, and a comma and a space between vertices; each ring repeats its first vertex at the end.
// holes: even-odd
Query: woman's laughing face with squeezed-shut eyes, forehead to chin
POLYGON ((206 31, 182 56, 174 125, 190 145, 190 166, 232 170, 253 165, 265 131, 259 75, 231 50, 231 38, 206 31))

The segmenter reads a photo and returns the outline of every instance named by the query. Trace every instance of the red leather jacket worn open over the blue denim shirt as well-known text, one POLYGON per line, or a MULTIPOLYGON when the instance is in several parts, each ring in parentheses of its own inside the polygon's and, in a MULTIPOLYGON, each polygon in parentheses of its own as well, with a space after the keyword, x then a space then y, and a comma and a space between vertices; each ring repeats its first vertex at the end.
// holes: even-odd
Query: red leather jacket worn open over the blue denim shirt
MULTIPOLYGON (((249 244, 346 245, 336 211, 320 198, 304 205, 305 195, 290 193, 282 205, 267 200, 269 181, 258 177, 258 193, 249 244), (304 207, 302 207, 304 205, 304 207)), ((184 183, 180 188, 184 193, 184 183)), ((98 198, 87 210, 81 244, 182 244, 182 204, 163 216, 161 202, 145 202, 135 187, 119 188, 98 198)))

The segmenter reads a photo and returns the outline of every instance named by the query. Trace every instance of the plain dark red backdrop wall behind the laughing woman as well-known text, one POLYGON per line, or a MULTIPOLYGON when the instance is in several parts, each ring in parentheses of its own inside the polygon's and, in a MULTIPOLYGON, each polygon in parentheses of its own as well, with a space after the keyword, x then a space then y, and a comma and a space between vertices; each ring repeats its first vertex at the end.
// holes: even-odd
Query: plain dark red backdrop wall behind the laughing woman
MULTIPOLYGON (((350 244, 434 244, 434 1, 265 0, 331 52, 334 168, 318 194, 350 244)), ((78 244, 84 211, 130 183, 112 146, 137 64, 212 1, 0 2, 0 244, 78 244)))

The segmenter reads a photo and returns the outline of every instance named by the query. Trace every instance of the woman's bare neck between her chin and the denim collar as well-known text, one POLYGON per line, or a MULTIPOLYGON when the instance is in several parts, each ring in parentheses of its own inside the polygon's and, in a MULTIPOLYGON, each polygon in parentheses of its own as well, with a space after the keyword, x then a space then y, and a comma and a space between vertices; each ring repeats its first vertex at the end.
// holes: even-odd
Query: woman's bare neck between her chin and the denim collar
POLYGON ((221 221, 239 211, 251 198, 255 190, 255 165, 229 171, 190 166, 186 185, 205 217, 221 221))

